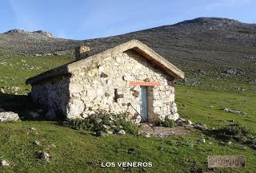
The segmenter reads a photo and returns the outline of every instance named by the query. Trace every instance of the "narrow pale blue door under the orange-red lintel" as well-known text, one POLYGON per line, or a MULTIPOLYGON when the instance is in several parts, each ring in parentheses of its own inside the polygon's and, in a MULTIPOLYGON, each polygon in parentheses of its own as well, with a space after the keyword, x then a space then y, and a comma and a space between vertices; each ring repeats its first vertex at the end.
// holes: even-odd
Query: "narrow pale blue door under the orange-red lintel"
POLYGON ((142 121, 147 121, 147 92, 146 92, 146 86, 141 86, 141 92, 140 92, 140 108, 141 108, 141 115, 142 115, 142 121))

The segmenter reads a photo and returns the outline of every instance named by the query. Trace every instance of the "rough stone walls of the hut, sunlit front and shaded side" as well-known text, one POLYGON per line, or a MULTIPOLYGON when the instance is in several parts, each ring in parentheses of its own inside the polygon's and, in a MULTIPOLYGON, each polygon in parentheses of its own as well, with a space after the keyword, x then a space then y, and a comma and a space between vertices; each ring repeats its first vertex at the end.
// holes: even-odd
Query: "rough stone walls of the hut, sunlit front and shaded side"
POLYGON ((111 53, 93 65, 34 82, 31 96, 69 119, 122 113, 138 123, 140 84, 149 84, 148 121, 178 119, 174 77, 134 49, 111 53))

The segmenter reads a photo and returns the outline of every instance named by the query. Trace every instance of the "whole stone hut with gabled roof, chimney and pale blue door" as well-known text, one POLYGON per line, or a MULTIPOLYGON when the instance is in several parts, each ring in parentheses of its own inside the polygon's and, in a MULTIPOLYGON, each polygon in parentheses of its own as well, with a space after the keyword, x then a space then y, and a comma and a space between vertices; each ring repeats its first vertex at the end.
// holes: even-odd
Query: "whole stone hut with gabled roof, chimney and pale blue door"
MULTIPOLYGON (((137 40, 51 69, 26 80, 32 100, 68 119, 100 113, 139 121, 178 119, 174 80, 184 73, 137 40)), ((78 51, 76 51, 77 54, 78 51)))

